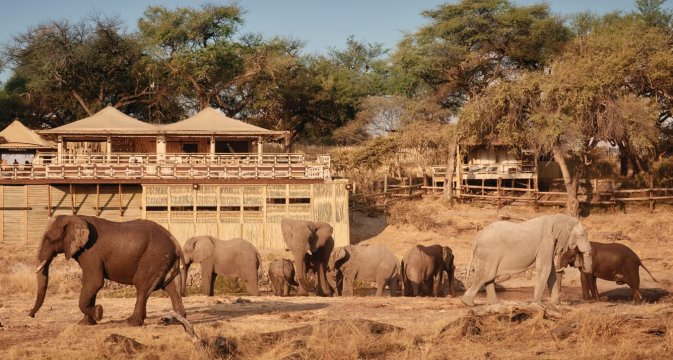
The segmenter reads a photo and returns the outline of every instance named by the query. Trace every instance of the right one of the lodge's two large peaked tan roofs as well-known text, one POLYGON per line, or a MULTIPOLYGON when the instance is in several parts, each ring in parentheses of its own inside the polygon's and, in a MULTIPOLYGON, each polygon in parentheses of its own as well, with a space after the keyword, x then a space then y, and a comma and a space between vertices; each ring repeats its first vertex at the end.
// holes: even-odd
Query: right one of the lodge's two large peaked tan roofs
POLYGON ((267 130, 232 119, 211 107, 199 111, 190 118, 164 125, 161 128, 166 134, 239 135, 267 138, 281 138, 284 135, 283 131, 267 130))

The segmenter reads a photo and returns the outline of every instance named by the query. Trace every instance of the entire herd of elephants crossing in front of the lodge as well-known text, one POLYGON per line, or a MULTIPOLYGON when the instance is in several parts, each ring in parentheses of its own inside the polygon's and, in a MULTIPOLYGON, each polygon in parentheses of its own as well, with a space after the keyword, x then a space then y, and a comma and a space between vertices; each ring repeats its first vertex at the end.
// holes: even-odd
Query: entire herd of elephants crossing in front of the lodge
MULTIPOLYGON (((283 219, 281 229, 294 262, 278 259, 269 266, 275 295, 287 296, 296 286, 300 295, 315 291, 319 296, 348 296, 353 295, 354 281, 361 280, 375 281, 377 296, 386 286, 391 296, 397 295, 400 286, 405 296, 441 296, 442 286, 448 281, 450 295, 455 296, 454 255, 447 246, 417 245, 399 261, 384 245, 335 248, 333 229, 327 223, 283 219), (307 280, 309 273, 315 276, 315 286, 307 280)), ((135 310, 126 319, 129 325, 143 324, 147 299, 158 289, 165 290, 173 309, 186 316, 182 297, 192 263, 200 263, 207 295, 213 295, 217 275, 238 277, 249 294, 259 294, 262 261, 247 240, 197 236, 180 246, 168 230, 149 220, 113 222, 61 215, 47 224, 38 250, 37 295, 31 317, 44 302, 49 266, 61 253, 66 259, 75 259, 82 269, 79 308, 84 318, 80 324, 93 325, 101 320, 103 308, 96 304, 96 295, 105 279, 135 286, 135 310)), ((497 221, 482 229, 474 239, 470 259, 468 277, 472 285, 462 302, 474 306, 475 295, 484 286, 488 303, 495 303, 496 277, 531 266, 535 268, 533 301, 537 303, 542 301, 545 287, 551 292, 551 303, 558 303, 560 277, 567 266, 580 269, 584 299, 598 300, 596 278, 601 278, 628 284, 633 300, 642 301, 639 267, 643 264, 638 256, 621 244, 589 242, 578 219, 555 214, 519 223, 497 221)))

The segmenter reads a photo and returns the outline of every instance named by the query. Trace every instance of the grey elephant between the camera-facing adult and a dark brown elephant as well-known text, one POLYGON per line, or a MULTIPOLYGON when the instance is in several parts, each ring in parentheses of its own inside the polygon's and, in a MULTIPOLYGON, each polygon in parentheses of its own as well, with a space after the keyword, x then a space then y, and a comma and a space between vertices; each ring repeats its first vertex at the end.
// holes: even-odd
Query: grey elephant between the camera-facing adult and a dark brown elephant
MULTIPOLYGON (((327 268, 332 287, 343 279, 343 294, 353 296, 353 281, 376 281, 376 296, 388 285, 390 296, 397 296, 399 265, 397 257, 384 245, 348 245, 334 249, 327 268)), ((341 293, 341 291, 338 291, 341 293)))

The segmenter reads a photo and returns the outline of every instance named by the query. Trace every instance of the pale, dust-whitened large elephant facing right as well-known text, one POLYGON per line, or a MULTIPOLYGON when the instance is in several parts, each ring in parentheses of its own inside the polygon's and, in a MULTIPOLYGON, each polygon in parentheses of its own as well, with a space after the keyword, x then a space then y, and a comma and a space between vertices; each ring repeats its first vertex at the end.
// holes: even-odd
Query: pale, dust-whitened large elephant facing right
POLYGON ((551 291, 551 303, 557 304, 561 292, 560 257, 568 249, 578 249, 584 263, 582 271, 591 272, 591 246, 582 223, 564 214, 544 215, 513 223, 496 221, 481 230, 472 248, 469 272, 474 264, 474 281, 462 301, 474 306, 474 297, 486 284, 488 303, 496 303, 495 278, 526 270, 535 264, 533 302, 542 302, 545 284, 551 291))

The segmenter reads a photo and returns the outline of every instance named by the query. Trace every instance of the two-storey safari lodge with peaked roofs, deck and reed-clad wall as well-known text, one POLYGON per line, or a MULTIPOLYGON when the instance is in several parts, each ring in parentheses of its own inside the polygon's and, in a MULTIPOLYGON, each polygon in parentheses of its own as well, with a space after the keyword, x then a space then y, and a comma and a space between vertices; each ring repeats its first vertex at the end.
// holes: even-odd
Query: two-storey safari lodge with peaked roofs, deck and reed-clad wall
POLYGON ((0 132, 0 242, 38 244, 59 214, 150 219, 180 242, 194 235, 243 237, 284 250, 284 217, 325 221, 349 243, 346 180, 327 155, 268 154, 285 132, 207 108, 154 125, 113 107, 61 127, 0 132))

